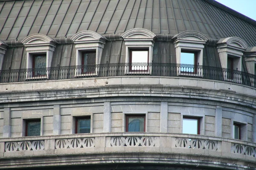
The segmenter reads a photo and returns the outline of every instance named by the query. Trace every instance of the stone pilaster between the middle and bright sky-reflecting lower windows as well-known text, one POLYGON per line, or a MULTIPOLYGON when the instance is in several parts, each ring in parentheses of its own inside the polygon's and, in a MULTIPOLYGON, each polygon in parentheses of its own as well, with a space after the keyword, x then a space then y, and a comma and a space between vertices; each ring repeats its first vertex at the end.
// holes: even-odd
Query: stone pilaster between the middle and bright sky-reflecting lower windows
POLYGON ((160 107, 160 132, 167 133, 168 128, 168 102, 161 102, 160 107))

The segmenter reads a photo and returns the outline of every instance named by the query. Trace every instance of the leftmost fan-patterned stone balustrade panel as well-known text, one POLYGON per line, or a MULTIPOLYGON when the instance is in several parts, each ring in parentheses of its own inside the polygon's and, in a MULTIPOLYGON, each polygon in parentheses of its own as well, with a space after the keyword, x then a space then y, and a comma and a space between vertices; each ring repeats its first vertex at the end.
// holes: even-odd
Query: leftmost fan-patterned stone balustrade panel
POLYGON ((18 152, 25 150, 44 150, 44 140, 5 142, 5 152, 18 152))

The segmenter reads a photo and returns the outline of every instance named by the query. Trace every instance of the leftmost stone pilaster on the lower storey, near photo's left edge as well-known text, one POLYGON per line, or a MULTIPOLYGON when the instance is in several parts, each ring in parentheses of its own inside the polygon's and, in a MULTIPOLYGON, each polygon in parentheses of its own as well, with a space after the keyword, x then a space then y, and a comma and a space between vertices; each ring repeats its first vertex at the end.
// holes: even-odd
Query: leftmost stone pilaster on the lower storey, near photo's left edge
POLYGON ((3 109, 3 138, 11 137, 11 109, 3 109))

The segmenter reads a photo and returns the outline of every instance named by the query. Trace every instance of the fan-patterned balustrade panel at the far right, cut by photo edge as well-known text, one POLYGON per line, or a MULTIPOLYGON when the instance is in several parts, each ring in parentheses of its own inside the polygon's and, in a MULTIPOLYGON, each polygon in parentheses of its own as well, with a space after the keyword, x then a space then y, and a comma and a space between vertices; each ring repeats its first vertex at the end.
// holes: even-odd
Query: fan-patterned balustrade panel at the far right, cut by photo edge
POLYGON ((256 147, 244 144, 231 144, 231 153, 238 153, 246 156, 256 157, 256 147))

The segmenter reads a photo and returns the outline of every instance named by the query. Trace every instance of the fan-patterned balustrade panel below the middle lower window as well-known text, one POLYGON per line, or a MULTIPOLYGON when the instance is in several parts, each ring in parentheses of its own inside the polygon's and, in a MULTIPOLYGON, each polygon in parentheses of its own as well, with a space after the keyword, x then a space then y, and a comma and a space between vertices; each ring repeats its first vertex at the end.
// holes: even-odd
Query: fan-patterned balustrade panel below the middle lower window
POLYGON ((159 144, 159 137, 152 136, 115 136, 111 137, 111 147, 156 147, 159 144))

